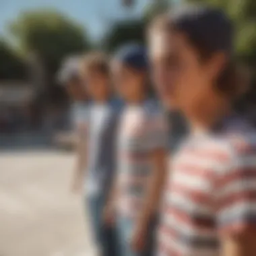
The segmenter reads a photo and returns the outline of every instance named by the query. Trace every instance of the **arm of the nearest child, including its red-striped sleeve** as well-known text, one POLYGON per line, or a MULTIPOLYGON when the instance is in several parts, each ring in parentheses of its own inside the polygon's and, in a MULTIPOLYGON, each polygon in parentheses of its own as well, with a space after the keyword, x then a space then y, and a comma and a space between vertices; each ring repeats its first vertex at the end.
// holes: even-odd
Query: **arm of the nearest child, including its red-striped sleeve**
POLYGON ((255 255, 256 152, 251 141, 239 141, 230 164, 214 179, 221 256, 255 255))

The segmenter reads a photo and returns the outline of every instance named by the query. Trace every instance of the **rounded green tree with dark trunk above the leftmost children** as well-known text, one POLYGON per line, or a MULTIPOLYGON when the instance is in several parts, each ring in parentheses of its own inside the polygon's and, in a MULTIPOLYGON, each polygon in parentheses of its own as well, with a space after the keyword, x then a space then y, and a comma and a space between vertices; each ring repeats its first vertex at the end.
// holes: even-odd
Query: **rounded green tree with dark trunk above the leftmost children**
POLYGON ((22 53, 25 56, 36 55, 44 67, 47 98, 58 99, 55 73, 67 55, 89 49, 86 32, 65 15, 47 9, 22 13, 10 24, 10 32, 22 53))

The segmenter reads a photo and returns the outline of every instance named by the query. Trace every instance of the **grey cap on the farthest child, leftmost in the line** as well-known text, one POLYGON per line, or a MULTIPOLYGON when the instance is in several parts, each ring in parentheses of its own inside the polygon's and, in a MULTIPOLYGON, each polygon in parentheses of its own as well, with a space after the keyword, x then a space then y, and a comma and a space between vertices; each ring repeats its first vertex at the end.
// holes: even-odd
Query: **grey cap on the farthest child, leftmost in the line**
POLYGON ((79 57, 69 57, 65 59, 57 73, 57 81, 60 84, 65 85, 71 80, 77 79, 79 77, 79 64, 79 57))

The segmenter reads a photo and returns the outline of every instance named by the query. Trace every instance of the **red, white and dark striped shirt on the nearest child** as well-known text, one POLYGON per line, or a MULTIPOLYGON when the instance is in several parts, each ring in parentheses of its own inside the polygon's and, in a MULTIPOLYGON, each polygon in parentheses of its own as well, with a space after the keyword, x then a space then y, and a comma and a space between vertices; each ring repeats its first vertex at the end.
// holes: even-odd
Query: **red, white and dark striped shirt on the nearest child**
POLYGON ((185 141, 170 163, 157 256, 218 256, 220 234, 256 224, 256 133, 232 123, 185 141))

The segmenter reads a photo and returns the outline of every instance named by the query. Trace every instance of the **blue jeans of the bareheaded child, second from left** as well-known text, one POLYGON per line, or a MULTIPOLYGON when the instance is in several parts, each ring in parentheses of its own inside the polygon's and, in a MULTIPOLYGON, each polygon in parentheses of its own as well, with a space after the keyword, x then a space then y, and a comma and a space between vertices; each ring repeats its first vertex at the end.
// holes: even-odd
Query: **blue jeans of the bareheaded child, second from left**
POLYGON ((86 201, 94 238, 101 252, 100 255, 119 256, 115 228, 107 227, 102 222, 104 195, 89 196, 86 201))

